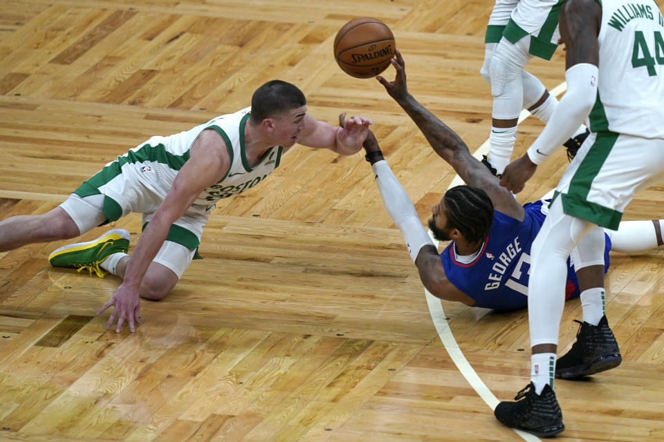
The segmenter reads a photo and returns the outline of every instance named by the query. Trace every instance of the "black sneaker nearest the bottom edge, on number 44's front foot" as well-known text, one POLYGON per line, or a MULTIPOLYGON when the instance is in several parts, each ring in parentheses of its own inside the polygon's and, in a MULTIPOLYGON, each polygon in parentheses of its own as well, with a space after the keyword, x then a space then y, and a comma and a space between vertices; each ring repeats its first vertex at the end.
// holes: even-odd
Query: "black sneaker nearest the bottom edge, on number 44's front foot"
POLYGON ((553 389, 544 385, 542 394, 535 393, 535 385, 529 383, 515 396, 516 402, 499 403, 493 414, 508 427, 518 428, 540 437, 550 437, 565 429, 562 411, 553 389))

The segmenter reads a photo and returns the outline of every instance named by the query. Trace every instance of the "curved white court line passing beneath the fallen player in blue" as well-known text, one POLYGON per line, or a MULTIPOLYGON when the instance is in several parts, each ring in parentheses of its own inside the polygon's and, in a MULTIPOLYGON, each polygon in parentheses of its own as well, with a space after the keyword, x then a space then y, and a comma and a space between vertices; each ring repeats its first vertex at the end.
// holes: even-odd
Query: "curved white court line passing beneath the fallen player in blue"
MULTIPOLYGON (((558 95, 562 94, 567 88, 566 83, 562 83, 555 88, 553 88, 549 93, 553 95, 554 97, 557 97, 558 95)), ((524 119, 528 118, 531 115, 528 111, 525 109, 521 112, 521 115, 519 115, 519 122, 524 121, 524 119)), ((518 124, 517 123, 517 124, 518 124)), ((477 151, 475 151, 472 156, 476 157, 477 159, 481 158, 482 155, 486 155, 486 153, 489 151, 489 140, 486 140, 483 142, 479 148, 477 148, 477 151)), ((459 184, 463 184, 463 181, 459 177, 459 175, 454 177, 454 180, 450 182, 450 186, 448 186, 448 189, 454 186, 458 186, 459 184)), ((429 236, 431 237, 432 241, 434 244, 436 244, 436 249, 438 248, 438 241, 433 237, 433 234, 431 231, 429 231, 429 236)), ((454 335, 452 334, 452 330, 450 330, 450 325, 448 325, 448 321, 445 320, 445 311, 443 311, 443 306, 441 305, 441 300, 439 298, 436 298, 433 296, 427 289, 424 289, 424 294, 427 298, 427 305, 429 306, 429 314, 431 315, 431 319, 434 323, 434 326, 436 327, 436 332, 438 332, 438 336, 441 338, 441 341, 443 342, 443 347, 445 347, 445 350, 447 350, 448 354, 450 355, 450 358, 452 358, 452 362, 454 362, 454 365, 457 365, 457 368, 459 369, 459 372, 463 375, 466 381, 470 384, 473 390, 479 394, 479 397, 483 399, 486 404, 491 407, 491 410, 495 409, 496 405, 498 405, 499 401, 496 398, 496 396, 489 390, 489 388, 486 386, 486 384, 479 378, 477 375, 477 372, 472 368, 472 365, 468 362, 468 359, 465 358, 463 355, 463 352, 461 352, 461 349, 459 348, 459 344, 457 344, 457 340, 454 339, 454 335)), ((513 428, 513 430, 519 434, 519 436, 524 439, 524 441, 528 442, 536 442, 540 441, 537 436, 534 436, 533 434, 524 432, 522 430, 516 430, 513 428)))

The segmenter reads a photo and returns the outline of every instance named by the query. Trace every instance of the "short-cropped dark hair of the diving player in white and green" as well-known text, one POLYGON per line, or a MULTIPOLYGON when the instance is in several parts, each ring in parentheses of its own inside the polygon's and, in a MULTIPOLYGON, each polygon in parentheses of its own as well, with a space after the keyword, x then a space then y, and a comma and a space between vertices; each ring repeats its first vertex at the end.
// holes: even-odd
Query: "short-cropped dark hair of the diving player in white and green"
POLYGON ((260 124, 266 118, 274 118, 305 104, 302 90, 294 84, 282 80, 268 81, 251 97, 251 122, 260 124))

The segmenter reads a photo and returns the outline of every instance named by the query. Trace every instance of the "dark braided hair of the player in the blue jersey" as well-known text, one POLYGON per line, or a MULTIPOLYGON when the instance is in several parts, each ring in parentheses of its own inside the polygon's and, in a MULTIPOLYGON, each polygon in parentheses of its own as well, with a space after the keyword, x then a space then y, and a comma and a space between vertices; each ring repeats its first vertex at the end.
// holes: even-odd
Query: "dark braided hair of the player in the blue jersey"
POLYGON ((443 196, 447 208, 447 229, 459 229, 468 242, 486 238, 493 222, 493 204, 482 189, 456 186, 443 196))

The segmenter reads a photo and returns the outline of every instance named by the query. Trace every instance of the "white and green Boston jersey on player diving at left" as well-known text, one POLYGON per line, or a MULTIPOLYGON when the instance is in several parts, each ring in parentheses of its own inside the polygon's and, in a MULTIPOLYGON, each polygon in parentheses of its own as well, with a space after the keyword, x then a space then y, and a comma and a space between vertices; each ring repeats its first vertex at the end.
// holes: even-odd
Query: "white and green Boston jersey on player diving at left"
MULTIPOLYGON (((261 161, 252 169, 244 151, 244 128, 251 108, 236 113, 221 115, 209 122, 200 124, 189 131, 168 137, 151 137, 147 142, 118 157, 122 173, 132 176, 146 189, 165 198, 178 171, 190 157, 190 148, 205 129, 213 129, 225 141, 230 156, 230 168, 216 184, 205 189, 194 201, 190 211, 205 212, 222 198, 228 198, 251 189, 279 166, 282 146, 273 146, 261 161)), ((109 163, 111 165, 111 163, 109 163)), ((109 195, 115 200, 123 200, 123 195, 109 195)), ((121 204, 122 205, 122 204, 121 204)))

